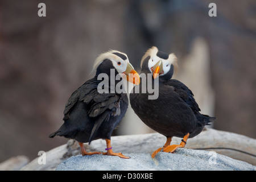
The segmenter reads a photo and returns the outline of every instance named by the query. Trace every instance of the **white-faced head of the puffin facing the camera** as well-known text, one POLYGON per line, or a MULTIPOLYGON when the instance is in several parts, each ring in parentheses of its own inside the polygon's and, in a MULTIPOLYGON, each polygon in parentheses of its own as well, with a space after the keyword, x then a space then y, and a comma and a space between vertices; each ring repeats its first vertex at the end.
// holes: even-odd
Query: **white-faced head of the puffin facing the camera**
POLYGON ((169 55, 158 51, 156 47, 151 47, 142 57, 141 68, 142 70, 149 69, 154 79, 159 77, 164 80, 170 80, 176 75, 179 67, 177 65, 177 57, 174 53, 169 55))

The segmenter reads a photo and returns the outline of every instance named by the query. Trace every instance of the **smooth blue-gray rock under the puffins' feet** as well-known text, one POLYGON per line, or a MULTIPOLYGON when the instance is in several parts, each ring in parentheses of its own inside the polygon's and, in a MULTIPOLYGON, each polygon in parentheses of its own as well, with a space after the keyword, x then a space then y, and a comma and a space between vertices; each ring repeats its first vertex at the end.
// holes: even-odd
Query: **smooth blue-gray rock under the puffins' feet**
POLYGON ((166 171, 166 170, 255 170, 255 166, 214 151, 178 148, 175 154, 159 152, 154 159, 147 153, 124 153, 117 156, 72 156, 57 166, 57 171, 166 171))

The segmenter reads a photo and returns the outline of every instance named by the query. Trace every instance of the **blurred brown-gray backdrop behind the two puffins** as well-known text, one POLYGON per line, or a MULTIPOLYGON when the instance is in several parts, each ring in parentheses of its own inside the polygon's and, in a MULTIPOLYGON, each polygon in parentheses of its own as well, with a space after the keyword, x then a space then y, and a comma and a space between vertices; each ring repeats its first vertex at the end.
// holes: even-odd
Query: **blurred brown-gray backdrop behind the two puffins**
MULTIPOLYGON (((94 76, 100 53, 126 52, 140 72, 152 46, 176 54, 176 78, 201 113, 217 117, 214 129, 256 138, 254 0, 0 0, 0 162, 67 142, 48 135, 62 125, 72 92, 94 76)), ((149 132, 129 108, 114 135, 149 132)))

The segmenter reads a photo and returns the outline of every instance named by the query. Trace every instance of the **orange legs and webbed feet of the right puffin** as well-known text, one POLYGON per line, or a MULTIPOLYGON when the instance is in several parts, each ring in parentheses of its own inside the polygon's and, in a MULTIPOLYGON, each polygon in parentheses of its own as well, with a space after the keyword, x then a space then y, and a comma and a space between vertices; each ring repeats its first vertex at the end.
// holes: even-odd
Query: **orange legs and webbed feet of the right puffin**
POLYGON ((153 152, 153 154, 151 155, 152 158, 155 158, 155 155, 158 154, 158 152, 160 152, 162 149, 163 149, 163 152, 173 153, 177 148, 184 148, 188 137, 189 137, 189 133, 184 136, 184 138, 182 139, 182 142, 180 144, 172 144, 171 146, 170 146, 170 143, 171 143, 172 139, 171 139, 171 137, 168 137, 166 144, 164 144, 164 146, 162 148, 158 148, 158 150, 153 152))

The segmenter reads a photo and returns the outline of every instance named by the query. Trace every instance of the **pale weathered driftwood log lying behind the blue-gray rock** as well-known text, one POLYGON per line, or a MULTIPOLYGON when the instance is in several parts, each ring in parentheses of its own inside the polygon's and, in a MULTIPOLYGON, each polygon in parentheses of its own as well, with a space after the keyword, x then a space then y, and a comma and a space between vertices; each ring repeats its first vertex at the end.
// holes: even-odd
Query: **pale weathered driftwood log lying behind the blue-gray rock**
MULTIPOLYGON (((180 143, 180 140, 181 138, 174 137, 172 139, 172 144, 178 144, 180 143)), ((166 137, 159 133, 112 137, 113 151, 129 154, 128 156, 130 156, 130 154, 147 154, 150 156, 154 150, 162 147, 164 142, 166 142, 166 137)), ((106 142, 105 140, 99 139, 92 141, 90 145, 85 143, 84 146, 88 152, 103 151, 106 148, 106 142)), ((218 154, 228 156, 232 159, 242 160, 253 166, 256 165, 256 140, 243 135, 214 129, 205 129, 200 135, 197 135, 194 138, 189 138, 185 148, 197 149, 196 151, 206 150, 205 152, 207 152, 207 155, 210 151, 215 151, 218 154)), ((64 160, 79 154, 80 147, 78 142, 75 142, 75 140, 68 140, 67 144, 63 144, 62 146, 46 152, 46 164, 40 165, 38 163, 39 158, 36 158, 21 170, 55 170, 60 163, 64 162, 64 160)))

